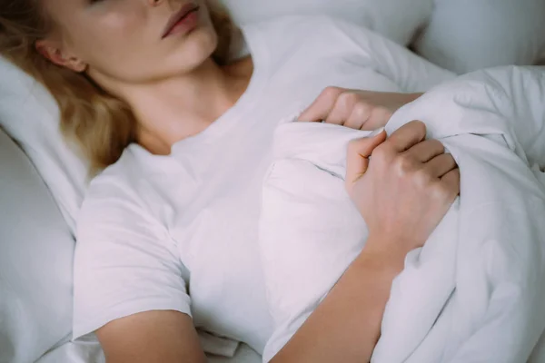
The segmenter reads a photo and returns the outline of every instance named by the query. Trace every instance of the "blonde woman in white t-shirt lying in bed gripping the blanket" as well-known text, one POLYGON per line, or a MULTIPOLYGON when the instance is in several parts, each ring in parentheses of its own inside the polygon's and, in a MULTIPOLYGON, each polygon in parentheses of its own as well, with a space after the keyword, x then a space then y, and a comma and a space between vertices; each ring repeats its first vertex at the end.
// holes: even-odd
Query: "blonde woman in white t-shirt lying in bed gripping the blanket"
MULTIPOLYGON (((202 0, 11 0, 0 25, 3 54, 107 167, 78 221, 74 338, 95 331, 108 362, 204 361, 195 326, 261 351, 273 327, 256 230, 276 124, 327 85, 417 91, 451 76, 328 18, 248 26, 251 56, 228 63, 228 18, 202 0)), ((413 98, 329 88, 300 118, 375 128, 413 98)), ((347 187, 370 239, 274 362, 369 360, 404 255, 459 190, 452 158, 424 139, 415 122, 352 144, 347 187)))

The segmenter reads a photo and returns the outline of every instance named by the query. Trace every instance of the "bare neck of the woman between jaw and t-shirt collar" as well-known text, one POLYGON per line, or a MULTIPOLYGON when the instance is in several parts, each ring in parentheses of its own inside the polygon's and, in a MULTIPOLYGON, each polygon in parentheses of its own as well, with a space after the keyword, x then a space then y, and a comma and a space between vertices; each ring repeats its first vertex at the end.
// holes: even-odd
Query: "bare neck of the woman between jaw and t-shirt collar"
POLYGON ((169 154, 175 142, 203 132, 233 107, 250 79, 239 68, 220 67, 209 59, 191 74, 124 84, 114 87, 115 94, 134 112, 138 142, 152 153, 169 154))

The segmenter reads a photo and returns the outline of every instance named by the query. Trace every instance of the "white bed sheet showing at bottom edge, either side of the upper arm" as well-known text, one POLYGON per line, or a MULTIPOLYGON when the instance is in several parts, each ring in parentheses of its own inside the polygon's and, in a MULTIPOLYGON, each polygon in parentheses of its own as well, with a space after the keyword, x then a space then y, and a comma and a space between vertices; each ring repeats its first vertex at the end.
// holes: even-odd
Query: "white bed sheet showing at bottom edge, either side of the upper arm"
MULTIPOLYGON (((261 363, 261 361, 262 358, 245 344, 241 344, 233 358, 208 357, 208 363, 261 363)), ((98 342, 82 340, 65 343, 49 351, 35 363, 105 363, 105 358, 98 342)))

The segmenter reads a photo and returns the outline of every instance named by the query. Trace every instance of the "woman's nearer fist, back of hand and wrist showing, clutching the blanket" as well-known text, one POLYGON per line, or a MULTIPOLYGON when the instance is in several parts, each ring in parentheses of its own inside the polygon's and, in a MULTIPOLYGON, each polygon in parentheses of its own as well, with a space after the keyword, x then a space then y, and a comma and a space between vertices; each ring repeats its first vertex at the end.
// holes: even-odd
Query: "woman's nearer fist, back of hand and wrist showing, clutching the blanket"
POLYGON ((367 223, 364 252, 396 258, 430 237, 460 193, 460 172, 441 142, 411 122, 349 145, 346 189, 367 223))

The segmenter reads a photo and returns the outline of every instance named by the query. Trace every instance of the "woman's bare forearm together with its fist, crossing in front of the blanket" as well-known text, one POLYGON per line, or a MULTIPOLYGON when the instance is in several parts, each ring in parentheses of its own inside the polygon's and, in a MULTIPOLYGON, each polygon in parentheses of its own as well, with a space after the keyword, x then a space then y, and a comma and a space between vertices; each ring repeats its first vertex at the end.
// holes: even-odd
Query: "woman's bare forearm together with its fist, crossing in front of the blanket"
POLYGON ((371 359, 392 280, 406 254, 423 245, 460 191, 456 163, 441 142, 423 141, 425 135, 425 125, 413 122, 385 142, 385 132, 352 142, 346 187, 370 238, 273 363, 371 359))

